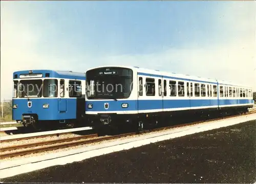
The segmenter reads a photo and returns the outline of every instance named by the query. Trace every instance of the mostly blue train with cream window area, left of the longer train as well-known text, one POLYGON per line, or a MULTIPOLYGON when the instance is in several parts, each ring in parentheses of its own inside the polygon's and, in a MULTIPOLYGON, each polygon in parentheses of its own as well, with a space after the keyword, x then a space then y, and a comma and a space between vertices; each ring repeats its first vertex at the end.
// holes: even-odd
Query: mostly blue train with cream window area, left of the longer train
POLYGON ((84 118, 86 77, 71 71, 13 73, 12 119, 36 129, 84 118))

